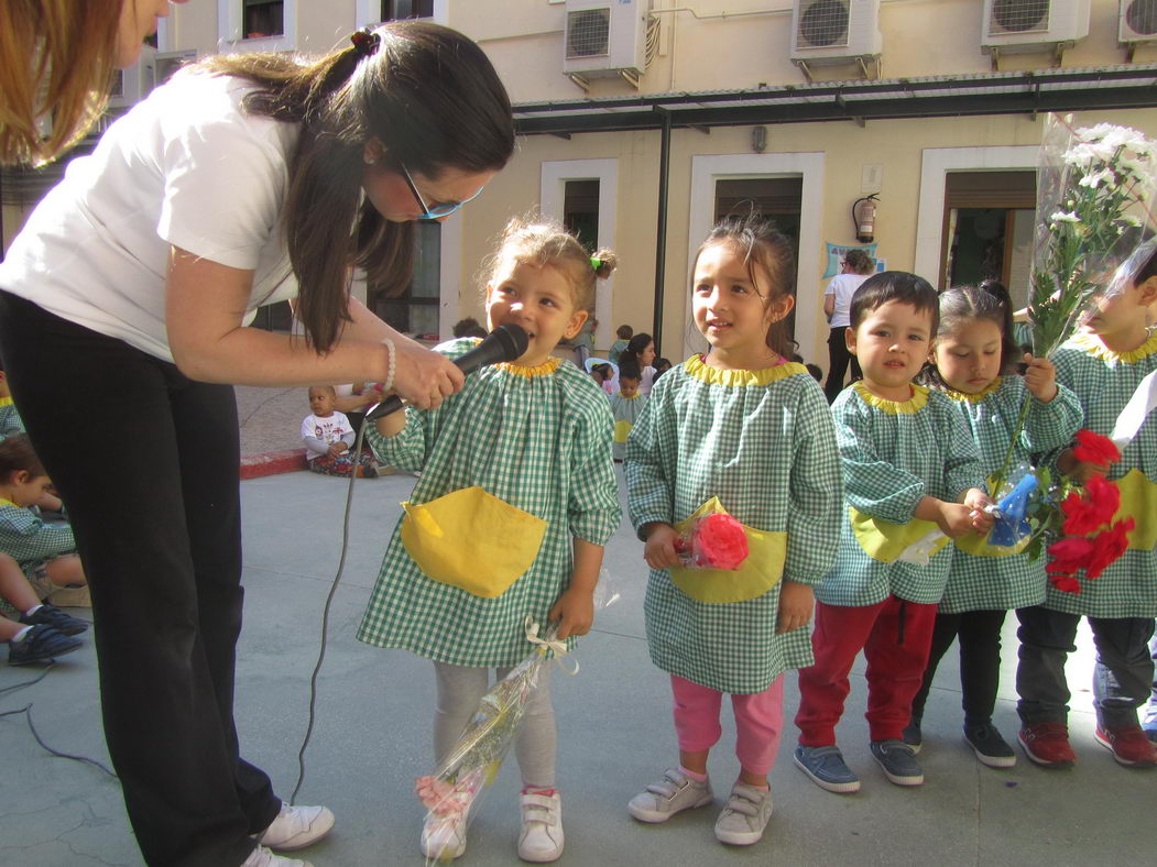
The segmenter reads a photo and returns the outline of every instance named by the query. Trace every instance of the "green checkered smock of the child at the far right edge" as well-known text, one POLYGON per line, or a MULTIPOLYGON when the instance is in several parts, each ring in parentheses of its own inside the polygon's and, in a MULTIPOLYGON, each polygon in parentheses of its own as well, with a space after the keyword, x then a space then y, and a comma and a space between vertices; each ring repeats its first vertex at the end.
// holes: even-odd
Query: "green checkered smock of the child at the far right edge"
MULTIPOLYGON (((1057 381, 1071 388, 1081 401, 1084 427, 1107 437, 1137 385, 1157 370, 1157 333, 1132 353, 1111 351, 1096 338, 1077 334, 1056 350, 1053 362, 1057 381)), ((1123 449, 1108 479, 1120 479, 1134 467, 1149 482, 1157 481, 1157 413, 1149 415, 1123 449)), ((1133 518, 1141 527, 1157 520, 1157 514, 1149 511, 1133 518)), ((1079 594, 1049 586, 1045 607, 1090 617, 1157 616, 1157 549, 1129 548, 1099 578, 1081 583, 1079 594)))

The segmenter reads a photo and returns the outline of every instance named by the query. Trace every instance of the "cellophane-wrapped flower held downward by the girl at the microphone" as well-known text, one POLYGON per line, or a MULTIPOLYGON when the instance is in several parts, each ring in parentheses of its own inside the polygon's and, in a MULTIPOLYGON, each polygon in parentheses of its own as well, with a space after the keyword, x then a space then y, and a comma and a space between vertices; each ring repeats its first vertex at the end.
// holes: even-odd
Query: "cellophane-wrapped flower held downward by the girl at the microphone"
MULTIPOLYGON (((600 570, 595 590, 595 610, 614 605, 619 595, 617 584, 609 579, 605 569, 600 570)), ((530 617, 528 624, 529 621, 530 617)), ((528 631, 536 636, 537 629, 537 624, 528 627, 528 631)), ((546 666, 558 658, 554 650, 547 646, 557 642, 555 631, 552 628, 543 638, 544 644, 535 646, 522 662, 482 696, 478 710, 442 764, 433 775, 415 780, 414 794, 427 808, 425 829, 432 838, 450 839, 448 829, 451 824, 462 821, 469 828, 473 821, 479 799, 494 783, 510 751, 531 694, 544 676, 546 666)), ((440 857, 435 852, 426 859, 426 865, 430 867, 450 860, 449 853, 440 857)))

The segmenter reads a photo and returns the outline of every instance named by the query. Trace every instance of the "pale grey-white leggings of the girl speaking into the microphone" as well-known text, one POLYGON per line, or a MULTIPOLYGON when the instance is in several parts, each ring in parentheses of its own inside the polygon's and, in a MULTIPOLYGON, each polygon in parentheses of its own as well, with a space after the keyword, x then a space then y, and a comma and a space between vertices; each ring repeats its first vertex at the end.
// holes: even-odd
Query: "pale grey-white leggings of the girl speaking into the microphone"
MULTIPOLYGON (((495 669, 499 680, 509 668, 495 669)), ((439 764, 458 742, 482 696, 491 688, 489 668, 435 662, 437 706, 434 710, 434 759, 439 764)), ((538 686, 531 691, 514 750, 522 771, 522 785, 532 788, 554 787, 554 754, 558 733, 554 707, 551 705, 550 667, 543 666, 538 686)))

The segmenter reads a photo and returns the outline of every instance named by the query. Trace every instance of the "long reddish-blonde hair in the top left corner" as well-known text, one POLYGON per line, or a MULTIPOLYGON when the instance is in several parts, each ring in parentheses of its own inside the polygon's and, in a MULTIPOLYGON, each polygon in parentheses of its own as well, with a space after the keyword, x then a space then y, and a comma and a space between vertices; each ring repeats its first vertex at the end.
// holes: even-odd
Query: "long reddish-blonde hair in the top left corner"
POLYGON ((50 162, 101 116, 125 2, 0 2, 0 164, 50 162), (44 119, 52 121, 47 138, 44 119))

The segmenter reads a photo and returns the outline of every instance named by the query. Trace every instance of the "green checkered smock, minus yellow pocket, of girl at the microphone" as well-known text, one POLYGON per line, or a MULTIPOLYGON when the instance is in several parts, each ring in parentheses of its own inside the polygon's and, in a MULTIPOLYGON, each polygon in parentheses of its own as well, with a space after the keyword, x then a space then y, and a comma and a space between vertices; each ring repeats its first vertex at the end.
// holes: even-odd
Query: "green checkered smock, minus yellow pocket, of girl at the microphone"
MULTIPOLYGON (((439 351, 454 358, 477 344, 457 340, 439 351)), ((533 649, 526 615, 545 625, 570 581, 574 538, 605 544, 619 526, 606 394, 567 361, 493 364, 437 409, 407 409, 398 436, 370 425, 366 438, 383 462, 422 470, 411 503, 477 484, 547 528, 530 570, 484 599, 427 578, 401 543, 399 520, 358 637, 451 665, 517 665, 533 649)))

